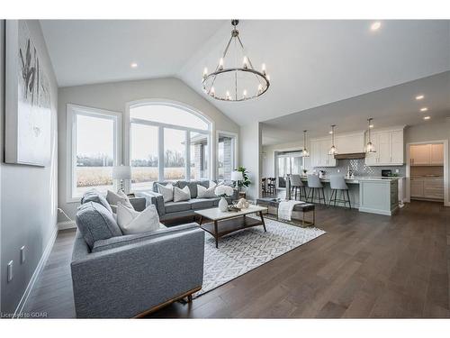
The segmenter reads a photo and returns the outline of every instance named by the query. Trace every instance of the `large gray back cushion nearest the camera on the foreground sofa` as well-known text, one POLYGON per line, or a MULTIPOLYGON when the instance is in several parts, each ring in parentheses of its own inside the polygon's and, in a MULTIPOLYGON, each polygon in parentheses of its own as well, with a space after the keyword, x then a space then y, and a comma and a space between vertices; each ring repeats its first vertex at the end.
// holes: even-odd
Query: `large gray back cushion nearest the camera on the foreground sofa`
POLYGON ((122 235, 112 213, 94 202, 87 202, 78 207, 76 226, 91 249, 96 241, 122 235))

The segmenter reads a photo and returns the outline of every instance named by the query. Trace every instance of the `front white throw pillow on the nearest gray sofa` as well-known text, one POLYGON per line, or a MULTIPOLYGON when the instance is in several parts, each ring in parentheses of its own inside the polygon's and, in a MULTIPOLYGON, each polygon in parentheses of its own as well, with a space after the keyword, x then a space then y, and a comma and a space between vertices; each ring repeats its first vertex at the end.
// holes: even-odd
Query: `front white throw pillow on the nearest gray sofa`
POLYGON ((119 203, 117 206, 117 224, 119 224, 123 234, 155 231, 160 226, 157 208, 154 205, 149 205, 139 213, 119 203))

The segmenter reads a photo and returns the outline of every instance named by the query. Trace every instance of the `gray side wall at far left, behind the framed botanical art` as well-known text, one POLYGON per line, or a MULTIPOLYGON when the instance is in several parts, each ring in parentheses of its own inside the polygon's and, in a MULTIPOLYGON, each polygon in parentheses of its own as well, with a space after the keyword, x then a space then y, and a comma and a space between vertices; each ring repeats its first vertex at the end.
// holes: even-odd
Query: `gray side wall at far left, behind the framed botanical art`
POLYGON ((38 266, 45 248, 56 232, 58 136, 58 86, 38 21, 27 21, 31 38, 49 76, 52 99, 51 164, 46 168, 5 164, 4 153, 4 20, 0 21, 0 137, 1 187, 1 311, 14 313, 38 266), (20 263, 20 248, 26 246, 26 260, 20 263), (14 279, 6 282, 6 265, 14 260, 14 279))

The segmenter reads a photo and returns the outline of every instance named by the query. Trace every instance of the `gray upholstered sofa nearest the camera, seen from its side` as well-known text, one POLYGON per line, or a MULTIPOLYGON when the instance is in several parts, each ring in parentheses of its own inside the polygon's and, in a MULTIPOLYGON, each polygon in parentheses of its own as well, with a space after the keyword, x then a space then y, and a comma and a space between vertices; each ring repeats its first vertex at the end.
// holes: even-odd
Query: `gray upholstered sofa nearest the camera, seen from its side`
POLYGON ((202 288, 204 232, 198 224, 123 235, 103 196, 76 213, 72 272, 76 316, 148 314, 202 288))

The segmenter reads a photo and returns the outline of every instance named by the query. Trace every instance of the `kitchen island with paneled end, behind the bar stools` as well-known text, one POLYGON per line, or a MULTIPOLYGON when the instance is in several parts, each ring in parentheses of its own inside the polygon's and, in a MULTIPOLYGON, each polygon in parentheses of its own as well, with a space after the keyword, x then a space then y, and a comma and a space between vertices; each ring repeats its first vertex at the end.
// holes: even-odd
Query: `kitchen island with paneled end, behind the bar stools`
MULTIPOLYGON (((352 208, 365 213, 393 215, 399 208, 399 179, 401 178, 346 178, 352 208)), ((302 177, 302 181, 307 182, 307 178, 302 177)), ((331 196, 329 177, 320 178, 320 182, 328 203, 331 196)), ((341 198, 339 193, 338 198, 341 198)), ((336 205, 344 206, 339 202, 336 205)))

